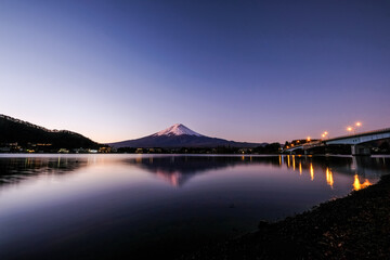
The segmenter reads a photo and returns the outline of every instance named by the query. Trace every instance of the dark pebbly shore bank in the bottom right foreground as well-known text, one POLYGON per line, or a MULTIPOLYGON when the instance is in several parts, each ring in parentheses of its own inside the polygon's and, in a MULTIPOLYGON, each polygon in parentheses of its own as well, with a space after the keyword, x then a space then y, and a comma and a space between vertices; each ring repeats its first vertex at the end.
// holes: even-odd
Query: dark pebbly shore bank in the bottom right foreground
POLYGON ((182 259, 390 259, 390 176, 373 186, 182 259))

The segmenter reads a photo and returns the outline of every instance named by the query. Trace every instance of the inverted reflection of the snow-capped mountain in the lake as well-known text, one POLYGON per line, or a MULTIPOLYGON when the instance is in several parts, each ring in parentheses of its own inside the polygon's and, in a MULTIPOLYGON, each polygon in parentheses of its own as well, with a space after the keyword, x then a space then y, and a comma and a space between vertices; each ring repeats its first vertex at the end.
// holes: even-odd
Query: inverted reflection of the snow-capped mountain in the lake
POLYGON ((195 174, 236 165, 271 164, 278 166, 278 159, 275 156, 160 156, 132 158, 127 159, 126 162, 153 172, 174 186, 183 185, 195 174))

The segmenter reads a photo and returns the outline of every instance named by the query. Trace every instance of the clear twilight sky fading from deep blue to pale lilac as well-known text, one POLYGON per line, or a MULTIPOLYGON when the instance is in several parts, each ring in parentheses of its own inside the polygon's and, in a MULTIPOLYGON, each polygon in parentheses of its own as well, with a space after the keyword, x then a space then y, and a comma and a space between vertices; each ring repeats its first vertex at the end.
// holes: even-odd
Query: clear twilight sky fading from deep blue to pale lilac
POLYGON ((390 1, 0 1, 0 114, 98 142, 390 127, 390 1))

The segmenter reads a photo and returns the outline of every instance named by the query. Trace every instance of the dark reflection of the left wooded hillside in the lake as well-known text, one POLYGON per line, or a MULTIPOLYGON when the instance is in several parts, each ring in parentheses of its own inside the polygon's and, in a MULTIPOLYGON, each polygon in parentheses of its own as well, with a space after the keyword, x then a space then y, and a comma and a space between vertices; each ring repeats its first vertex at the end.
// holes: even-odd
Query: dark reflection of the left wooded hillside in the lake
POLYGON ((86 165, 86 159, 66 157, 0 158, 0 185, 16 184, 41 174, 65 174, 86 165))

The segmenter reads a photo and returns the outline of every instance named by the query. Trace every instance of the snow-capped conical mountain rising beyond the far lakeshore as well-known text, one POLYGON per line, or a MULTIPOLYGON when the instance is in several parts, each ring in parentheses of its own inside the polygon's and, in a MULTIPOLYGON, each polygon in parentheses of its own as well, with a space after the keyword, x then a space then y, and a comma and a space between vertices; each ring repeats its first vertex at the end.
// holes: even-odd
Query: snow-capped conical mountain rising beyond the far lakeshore
POLYGON ((116 143, 108 143, 109 146, 115 148, 120 147, 138 147, 138 148, 180 148, 180 147, 218 147, 218 146, 231 146, 231 147, 257 147, 264 145, 264 143, 246 143, 246 142, 234 142, 224 139, 210 138, 197 133, 182 123, 176 123, 162 131, 154 134, 127 140, 116 143))

